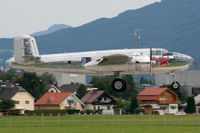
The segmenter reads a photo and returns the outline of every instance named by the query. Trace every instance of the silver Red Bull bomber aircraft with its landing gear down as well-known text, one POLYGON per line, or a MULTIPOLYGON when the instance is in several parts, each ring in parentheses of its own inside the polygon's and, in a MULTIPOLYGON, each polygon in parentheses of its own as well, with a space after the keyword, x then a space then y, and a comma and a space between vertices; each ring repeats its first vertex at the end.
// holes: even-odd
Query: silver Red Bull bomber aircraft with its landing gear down
MULTIPOLYGON (((14 38, 14 57, 7 66, 25 71, 64 72, 89 75, 113 75, 112 88, 126 89, 120 74, 173 73, 186 70, 193 59, 162 48, 117 49, 39 55, 36 41, 29 35, 14 38)), ((174 77, 174 76, 173 76, 174 77)), ((180 84, 175 80, 174 89, 180 84)))

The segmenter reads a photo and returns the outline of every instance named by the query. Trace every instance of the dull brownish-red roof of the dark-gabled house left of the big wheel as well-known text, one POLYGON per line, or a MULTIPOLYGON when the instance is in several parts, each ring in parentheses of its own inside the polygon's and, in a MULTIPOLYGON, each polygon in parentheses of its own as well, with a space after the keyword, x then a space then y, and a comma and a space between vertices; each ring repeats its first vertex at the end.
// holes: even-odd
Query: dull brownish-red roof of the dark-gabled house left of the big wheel
POLYGON ((81 98, 81 101, 83 101, 84 103, 92 103, 103 93, 105 93, 105 91, 89 91, 84 97, 81 98))

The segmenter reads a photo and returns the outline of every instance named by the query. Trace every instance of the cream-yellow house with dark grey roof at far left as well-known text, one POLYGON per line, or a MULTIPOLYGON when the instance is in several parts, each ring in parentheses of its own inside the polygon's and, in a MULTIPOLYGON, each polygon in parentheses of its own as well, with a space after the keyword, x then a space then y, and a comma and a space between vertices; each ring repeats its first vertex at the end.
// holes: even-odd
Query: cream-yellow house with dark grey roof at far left
POLYGON ((19 110, 24 114, 26 110, 34 110, 34 97, 21 86, 1 85, 0 100, 12 99, 15 101, 13 110, 19 110))

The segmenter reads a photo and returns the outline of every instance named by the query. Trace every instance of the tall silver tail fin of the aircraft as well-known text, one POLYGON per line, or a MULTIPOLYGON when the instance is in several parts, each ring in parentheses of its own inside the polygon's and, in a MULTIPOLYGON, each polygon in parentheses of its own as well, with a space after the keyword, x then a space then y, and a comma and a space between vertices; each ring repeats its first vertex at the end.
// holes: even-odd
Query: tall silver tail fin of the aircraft
POLYGON ((35 38, 23 35, 14 38, 14 59, 18 64, 33 63, 39 58, 35 38))

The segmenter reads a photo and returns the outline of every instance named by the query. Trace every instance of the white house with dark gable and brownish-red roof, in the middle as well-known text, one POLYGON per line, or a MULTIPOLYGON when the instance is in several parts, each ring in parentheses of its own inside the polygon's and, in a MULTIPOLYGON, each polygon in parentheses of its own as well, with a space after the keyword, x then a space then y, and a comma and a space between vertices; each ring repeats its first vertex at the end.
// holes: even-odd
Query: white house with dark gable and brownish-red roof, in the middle
POLYGON ((113 106, 116 101, 108 95, 105 91, 92 90, 89 91, 81 101, 85 103, 84 109, 90 110, 109 110, 114 113, 113 106))

